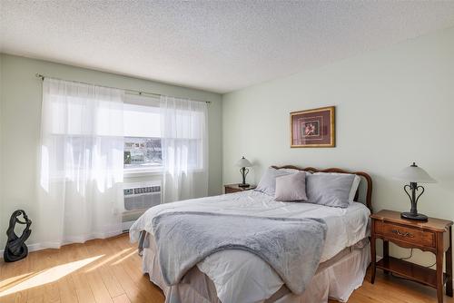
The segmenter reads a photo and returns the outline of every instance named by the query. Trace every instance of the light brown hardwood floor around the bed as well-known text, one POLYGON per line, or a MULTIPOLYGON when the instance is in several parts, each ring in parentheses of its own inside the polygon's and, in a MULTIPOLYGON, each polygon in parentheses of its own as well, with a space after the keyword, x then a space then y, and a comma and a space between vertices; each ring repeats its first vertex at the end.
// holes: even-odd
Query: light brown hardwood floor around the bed
MULTIPOLYGON (((381 270, 374 285, 369 280, 351 295, 350 303, 436 302, 435 289, 386 276, 381 270)), ((15 263, 0 260, 0 303, 163 301, 161 290, 143 275, 141 259, 127 235, 35 251, 15 263)), ((454 300, 445 296, 445 302, 454 300)))

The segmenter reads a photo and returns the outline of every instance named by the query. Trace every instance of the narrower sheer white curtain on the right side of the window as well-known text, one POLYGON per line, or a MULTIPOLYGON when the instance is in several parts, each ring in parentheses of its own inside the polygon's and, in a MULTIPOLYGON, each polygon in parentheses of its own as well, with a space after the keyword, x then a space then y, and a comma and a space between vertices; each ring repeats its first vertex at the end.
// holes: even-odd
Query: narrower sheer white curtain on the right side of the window
POLYGON ((161 97, 163 201, 204 197, 208 191, 207 104, 161 97))

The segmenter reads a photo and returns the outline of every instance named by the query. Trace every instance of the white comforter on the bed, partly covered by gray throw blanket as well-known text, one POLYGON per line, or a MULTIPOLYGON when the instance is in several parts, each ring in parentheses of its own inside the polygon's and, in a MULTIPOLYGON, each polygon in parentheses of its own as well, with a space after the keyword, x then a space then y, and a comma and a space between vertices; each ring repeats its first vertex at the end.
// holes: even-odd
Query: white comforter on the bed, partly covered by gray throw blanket
MULTIPOLYGON (((153 235, 152 219, 163 212, 208 211, 263 217, 322 218, 328 225, 321 262, 368 236, 369 209, 354 202, 347 209, 310 203, 279 202, 259 191, 183 200, 147 210, 130 229, 132 241, 146 230, 153 235)), ((223 250, 198 265, 212 279, 222 302, 257 302, 271 297, 283 282, 259 257, 243 250, 223 250)))

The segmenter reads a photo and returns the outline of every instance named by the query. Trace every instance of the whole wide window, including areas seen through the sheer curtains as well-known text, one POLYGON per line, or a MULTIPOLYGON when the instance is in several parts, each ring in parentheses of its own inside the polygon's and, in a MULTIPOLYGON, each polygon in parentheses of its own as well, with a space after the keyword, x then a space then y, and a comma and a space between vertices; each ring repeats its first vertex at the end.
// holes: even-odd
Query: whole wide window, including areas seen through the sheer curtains
POLYGON ((87 169, 96 157, 103 159, 96 170, 106 170, 107 164, 114 163, 112 171, 120 175, 122 166, 126 173, 206 169, 206 104, 165 97, 175 101, 168 103, 163 97, 62 83, 52 92, 44 92, 42 121, 48 134, 45 140, 52 143, 56 154, 47 161, 61 158, 50 161, 59 176, 74 178, 76 173, 64 175, 68 166, 74 166, 74 171, 87 169), (87 146, 93 148, 87 150, 87 146))

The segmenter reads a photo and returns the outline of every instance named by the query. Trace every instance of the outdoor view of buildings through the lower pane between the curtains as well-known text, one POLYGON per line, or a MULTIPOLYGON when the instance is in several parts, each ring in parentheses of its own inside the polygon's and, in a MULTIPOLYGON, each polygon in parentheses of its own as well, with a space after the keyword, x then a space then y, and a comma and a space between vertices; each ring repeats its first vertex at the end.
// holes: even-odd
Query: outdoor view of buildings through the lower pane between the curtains
POLYGON ((125 169, 161 166, 161 138, 124 137, 123 162, 125 169))

